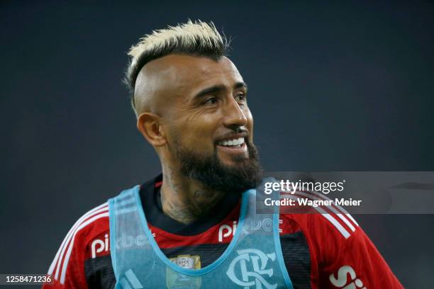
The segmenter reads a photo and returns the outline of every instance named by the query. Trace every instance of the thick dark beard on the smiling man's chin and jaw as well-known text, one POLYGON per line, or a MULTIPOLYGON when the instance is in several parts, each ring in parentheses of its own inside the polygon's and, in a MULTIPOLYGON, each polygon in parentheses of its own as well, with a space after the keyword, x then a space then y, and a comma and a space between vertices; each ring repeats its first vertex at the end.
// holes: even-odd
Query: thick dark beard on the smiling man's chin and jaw
POLYGON ((206 188, 222 193, 243 193, 259 186, 262 167, 255 145, 246 140, 249 158, 234 158, 234 165, 225 165, 218 159, 217 149, 212 155, 197 154, 177 144, 181 174, 204 184, 206 188))

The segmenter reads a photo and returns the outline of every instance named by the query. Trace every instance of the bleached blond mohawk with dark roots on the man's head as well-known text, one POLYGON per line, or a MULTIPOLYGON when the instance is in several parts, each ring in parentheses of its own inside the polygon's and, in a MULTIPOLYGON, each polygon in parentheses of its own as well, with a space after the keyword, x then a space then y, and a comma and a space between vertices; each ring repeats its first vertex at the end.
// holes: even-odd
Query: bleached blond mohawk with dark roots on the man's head
POLYGON ((123 79, 128 86, 135 114, 137 115, 134 101, 135 80, 145 64, 170 54, 209 57, 217 61, 228 54, 229 48, 229 41, 224 34, 222 36, 218 33, 214 23, 208 24, 200 20, 167 26, 140 38, 140 42, 133 45, 128 52, 130 62, 123 79))

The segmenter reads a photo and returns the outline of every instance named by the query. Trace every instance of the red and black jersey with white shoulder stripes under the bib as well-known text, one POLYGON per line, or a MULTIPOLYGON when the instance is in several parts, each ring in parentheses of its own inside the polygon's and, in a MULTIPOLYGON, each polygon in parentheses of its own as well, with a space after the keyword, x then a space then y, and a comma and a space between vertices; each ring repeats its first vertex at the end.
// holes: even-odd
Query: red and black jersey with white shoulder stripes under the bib
MULTIPOLYGON (((212 215, 184 225, 162 213, 161 180, 160 175, 140 187, 155 241, 169 259, 191 256, 201 268, 208 266, 233 238, 239 196, 227 196, 212 215)), ((318 198, 315 193, 300 194, 318 198)), ((320 212, 279 215, 282 254, 294 288, 403 288, 353 217, 338 206, 323 207, 320 212)), ((251 226, 271 228, 272 222, 251 226)), ((104 203, 69 230, 48 271, 54 283, 43 288, 114 288, 109 236, 109 206, 104 203)), ((122 236, 116 246, 140 245, 140 238, 122 236)))

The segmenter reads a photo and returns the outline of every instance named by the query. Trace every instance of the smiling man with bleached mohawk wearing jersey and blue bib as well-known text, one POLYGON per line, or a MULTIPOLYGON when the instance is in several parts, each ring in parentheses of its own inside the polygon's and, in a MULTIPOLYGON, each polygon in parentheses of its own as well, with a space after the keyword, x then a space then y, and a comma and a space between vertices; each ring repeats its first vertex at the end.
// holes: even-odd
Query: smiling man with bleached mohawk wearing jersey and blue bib
POLYGON ((227 49, 201 21, 130 49, 137 127, 162 174, 81 217, 46 288, 402 288, 341 208, 256 214, 253 119, 227 49))

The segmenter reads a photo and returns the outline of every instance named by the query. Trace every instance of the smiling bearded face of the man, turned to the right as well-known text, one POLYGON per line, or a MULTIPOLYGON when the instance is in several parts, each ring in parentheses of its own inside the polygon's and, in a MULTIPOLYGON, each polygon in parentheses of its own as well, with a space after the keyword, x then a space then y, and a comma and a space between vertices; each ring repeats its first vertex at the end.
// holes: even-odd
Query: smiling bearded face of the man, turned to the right
POLYGON ((260 166, 247 85, 228 58, 168 55, 153 60, 140 72, 137 91, 152 94, 136 103, 161 116, 169 159, 179 161, 183 174, 210 187, 233 174, 249 183, 238 189, 254 186, 260 166))

